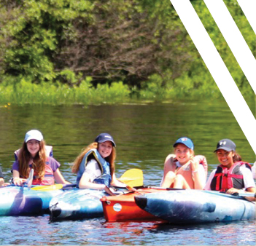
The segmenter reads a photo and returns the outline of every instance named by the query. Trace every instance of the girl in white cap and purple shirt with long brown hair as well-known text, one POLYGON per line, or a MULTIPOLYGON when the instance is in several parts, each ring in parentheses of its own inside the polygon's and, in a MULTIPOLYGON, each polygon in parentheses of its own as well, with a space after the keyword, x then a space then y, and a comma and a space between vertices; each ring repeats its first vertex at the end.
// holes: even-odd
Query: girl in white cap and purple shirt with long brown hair
POLYGON ((44 139, 39 130, 26 133, 23 146, 16 154, 18 158, 12 165, 12 182, 16 186, 26 182, 31 168, 34 169, 33 185, 53 185, 55 180, 57 183, 69 183, 61 175, 61 164, 47 156, 44 139))

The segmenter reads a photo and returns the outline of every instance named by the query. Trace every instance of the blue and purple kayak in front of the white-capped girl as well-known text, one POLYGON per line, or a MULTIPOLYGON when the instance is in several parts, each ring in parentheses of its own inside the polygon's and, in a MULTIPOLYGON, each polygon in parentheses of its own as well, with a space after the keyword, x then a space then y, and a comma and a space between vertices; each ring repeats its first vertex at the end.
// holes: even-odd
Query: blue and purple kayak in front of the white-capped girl
POLYGON ((0 188, 0 215, 42 215, 49 213, 50 200, 63 193, 62 189, 36 190, 23 186, 7 186, 0 188))

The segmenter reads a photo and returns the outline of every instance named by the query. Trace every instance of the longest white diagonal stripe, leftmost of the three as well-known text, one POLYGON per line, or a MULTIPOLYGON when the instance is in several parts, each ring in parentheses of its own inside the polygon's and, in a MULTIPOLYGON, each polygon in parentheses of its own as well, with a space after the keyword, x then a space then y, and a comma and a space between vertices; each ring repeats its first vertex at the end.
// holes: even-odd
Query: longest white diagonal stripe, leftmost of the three
POLYGON ((256 154, 255 117, 238 90, 216 47, 214 47, 195 9, 189 0, 170 1, 256 154))

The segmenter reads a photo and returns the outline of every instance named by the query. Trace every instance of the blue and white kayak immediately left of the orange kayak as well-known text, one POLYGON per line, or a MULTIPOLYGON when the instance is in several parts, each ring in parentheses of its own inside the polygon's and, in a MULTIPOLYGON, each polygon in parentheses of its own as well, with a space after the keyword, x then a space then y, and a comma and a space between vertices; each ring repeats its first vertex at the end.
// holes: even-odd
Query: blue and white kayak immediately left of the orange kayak
POLYGON ((71 189, 50 201, 50 221, 81 220, 103 217, 101 197, 104 191, 90 189, 71 189))

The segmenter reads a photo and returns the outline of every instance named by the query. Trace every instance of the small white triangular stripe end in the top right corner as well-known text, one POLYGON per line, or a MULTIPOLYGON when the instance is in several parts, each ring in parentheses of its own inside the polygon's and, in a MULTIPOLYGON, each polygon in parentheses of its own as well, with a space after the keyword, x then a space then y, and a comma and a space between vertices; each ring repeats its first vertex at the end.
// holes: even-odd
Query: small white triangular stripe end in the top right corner
POLYGON ((253 31, 256 34, 256 0, 237 0, 241 9, 244 12, 244 15, 247 17, 250 25, 252 26, 253 31))

